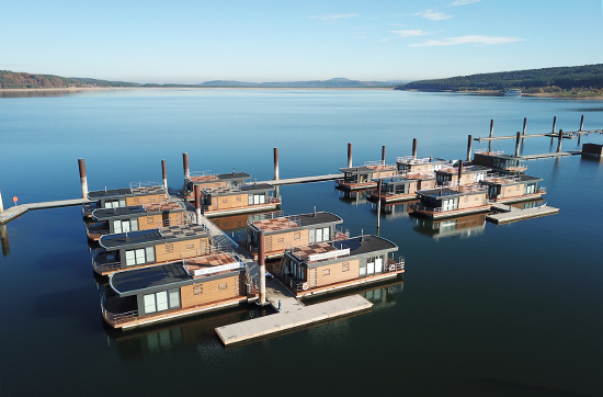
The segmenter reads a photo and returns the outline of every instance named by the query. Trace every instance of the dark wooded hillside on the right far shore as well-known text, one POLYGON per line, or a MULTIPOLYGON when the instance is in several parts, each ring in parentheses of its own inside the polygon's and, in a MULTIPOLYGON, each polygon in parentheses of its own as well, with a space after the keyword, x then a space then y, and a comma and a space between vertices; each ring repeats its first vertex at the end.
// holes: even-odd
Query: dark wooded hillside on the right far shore
POLYGON ((448 79, 412 81, 399 90, 475 91, 521 89, 524 91, 570 91, 603 89, 603 64, 457 76, 448 79))

